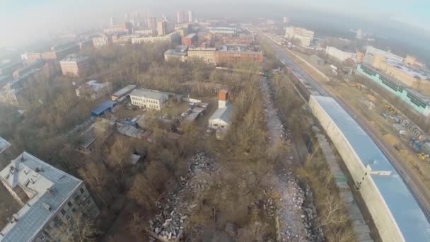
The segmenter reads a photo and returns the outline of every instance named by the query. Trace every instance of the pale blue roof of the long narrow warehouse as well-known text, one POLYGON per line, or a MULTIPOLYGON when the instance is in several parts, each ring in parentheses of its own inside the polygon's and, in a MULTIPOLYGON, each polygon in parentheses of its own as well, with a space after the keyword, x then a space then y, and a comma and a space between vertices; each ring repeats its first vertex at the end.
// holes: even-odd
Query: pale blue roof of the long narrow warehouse
POLYGON ((430 241, 430 223, 424 212, 399 173, 371 137, 333 98, 324 96, 312 98, 342 132, 364 166, 370 166, 372 171, 389 172, 389 175, 372 174, 371 177, 405 240, 430 241))

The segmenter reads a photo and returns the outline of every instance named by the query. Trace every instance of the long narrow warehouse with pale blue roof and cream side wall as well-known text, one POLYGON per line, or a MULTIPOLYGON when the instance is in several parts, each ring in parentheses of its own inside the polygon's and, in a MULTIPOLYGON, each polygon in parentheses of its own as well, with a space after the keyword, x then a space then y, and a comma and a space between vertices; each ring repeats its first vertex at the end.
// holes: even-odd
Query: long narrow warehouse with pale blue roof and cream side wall
POLYGON ((335 144, 383 241, 430 241, 430 223, 382 151, 333 98, 310 96, 313 115, 335 144))

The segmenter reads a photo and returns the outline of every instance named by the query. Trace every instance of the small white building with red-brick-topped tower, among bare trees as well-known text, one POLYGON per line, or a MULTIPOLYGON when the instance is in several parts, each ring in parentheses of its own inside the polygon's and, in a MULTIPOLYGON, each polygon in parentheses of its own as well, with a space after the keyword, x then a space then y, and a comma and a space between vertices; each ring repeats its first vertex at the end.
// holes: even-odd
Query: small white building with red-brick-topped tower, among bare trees
POLYGON ((218 109, 209 117, 209 127, 212 129, 228 128, 231 125, 233 105, 228 102, 228 91, 218 93, 218 109))

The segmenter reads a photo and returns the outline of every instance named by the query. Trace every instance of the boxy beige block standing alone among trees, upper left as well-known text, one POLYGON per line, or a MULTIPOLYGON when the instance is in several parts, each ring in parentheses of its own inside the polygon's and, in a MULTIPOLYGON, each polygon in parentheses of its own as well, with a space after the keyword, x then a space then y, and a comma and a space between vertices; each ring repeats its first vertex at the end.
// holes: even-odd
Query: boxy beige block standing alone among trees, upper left
POLYGON ((90 70, 90 57, 70 54, 59 62, 63 75, 81 76, 90 70))

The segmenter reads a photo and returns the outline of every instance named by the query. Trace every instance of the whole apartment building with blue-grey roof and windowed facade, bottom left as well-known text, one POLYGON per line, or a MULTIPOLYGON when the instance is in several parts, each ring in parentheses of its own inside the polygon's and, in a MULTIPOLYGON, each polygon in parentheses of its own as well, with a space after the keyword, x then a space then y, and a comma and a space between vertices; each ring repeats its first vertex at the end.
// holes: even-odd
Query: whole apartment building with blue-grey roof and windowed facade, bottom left
POLYGON ((74 214, 100 214, 82 180, 27 152, 0 171, 0 180, 22 206, 0 231, 1 242, 61 241, 74 214))

